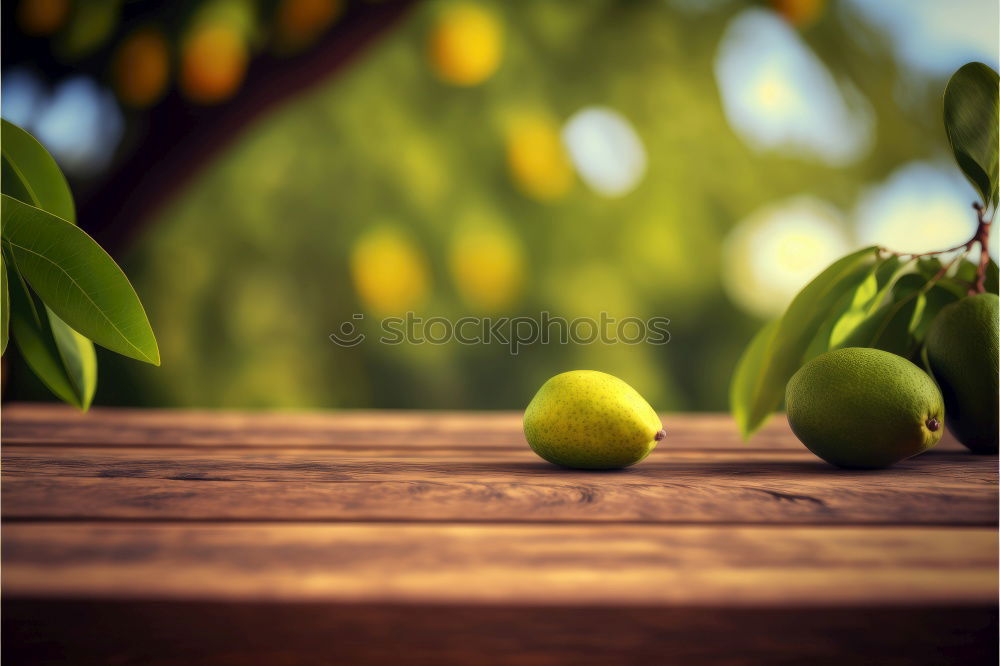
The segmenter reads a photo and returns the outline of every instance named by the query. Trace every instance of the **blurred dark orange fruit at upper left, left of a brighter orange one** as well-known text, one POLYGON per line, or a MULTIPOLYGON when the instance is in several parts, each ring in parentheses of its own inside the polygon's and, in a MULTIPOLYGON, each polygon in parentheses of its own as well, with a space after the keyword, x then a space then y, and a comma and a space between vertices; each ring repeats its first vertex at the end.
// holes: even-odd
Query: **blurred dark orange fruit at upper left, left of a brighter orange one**
POLYGON ((138 30, 122 42, 112 67, 118 97, 130 106, 149 106, 167 87, 167 41, 159 30, 138 30))

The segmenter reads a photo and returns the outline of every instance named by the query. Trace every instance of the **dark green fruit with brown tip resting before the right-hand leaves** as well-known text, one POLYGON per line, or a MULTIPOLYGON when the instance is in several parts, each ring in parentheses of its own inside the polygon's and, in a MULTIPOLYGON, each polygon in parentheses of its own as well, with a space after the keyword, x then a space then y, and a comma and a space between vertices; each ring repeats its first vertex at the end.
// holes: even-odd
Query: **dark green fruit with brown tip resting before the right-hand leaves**
POLYGON ((817 356, 785 388, 792 432, 838 467, 888 467, 941 440, 944 401, 934 381, 901 356, 847 347, 817 356))

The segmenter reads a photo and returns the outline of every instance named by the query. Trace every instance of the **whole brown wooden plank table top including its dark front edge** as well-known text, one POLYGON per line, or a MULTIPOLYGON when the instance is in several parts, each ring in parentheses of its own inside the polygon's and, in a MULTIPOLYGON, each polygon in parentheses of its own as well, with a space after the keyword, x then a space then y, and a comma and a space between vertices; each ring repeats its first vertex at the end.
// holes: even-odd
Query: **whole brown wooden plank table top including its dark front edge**
POLYGON ((666 414, 616 472, 506 412, 9 404, 9 663, 996 663, 997 458, 666 414))

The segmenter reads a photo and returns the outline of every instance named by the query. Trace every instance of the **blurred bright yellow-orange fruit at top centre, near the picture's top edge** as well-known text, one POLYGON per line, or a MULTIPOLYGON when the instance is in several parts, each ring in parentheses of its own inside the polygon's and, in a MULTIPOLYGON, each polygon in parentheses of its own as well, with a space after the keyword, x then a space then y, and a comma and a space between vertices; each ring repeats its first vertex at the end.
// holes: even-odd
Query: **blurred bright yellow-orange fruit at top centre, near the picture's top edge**
POLYGON ((493 12, 478 5, 448 6, 431 31, 430 60, 448 83, 474 86, 500 65, 503 27, 493 12))

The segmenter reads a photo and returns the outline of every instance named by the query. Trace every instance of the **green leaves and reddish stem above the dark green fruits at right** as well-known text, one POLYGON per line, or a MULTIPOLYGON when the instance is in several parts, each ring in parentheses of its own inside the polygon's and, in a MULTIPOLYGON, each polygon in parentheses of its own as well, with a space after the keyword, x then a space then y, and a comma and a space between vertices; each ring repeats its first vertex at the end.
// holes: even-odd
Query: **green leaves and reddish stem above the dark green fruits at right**
MULTIPOLYGON (((998 180, 998 76, 982 63, 961 67, 944 94, 944 124, 962 172, 982 196, 980 228, 947 263, 935 256, 907 256, 868 247, 820 273, 792 300, 781 318, 751 340, 729 389, 734 418, 748 437, 778 407, 785 384, 802 364, 842 347, 872 347, 917 361, 924 336, 941 308, 978 286, 997 293, 997 265, 967 261, 973 241, 986 252, 990 224, 983 211, 996 209, 998 180), (983 234, 983 231, 986 231, 983 234)), ((985 259, 985 257, 984 257, 985 259)))

